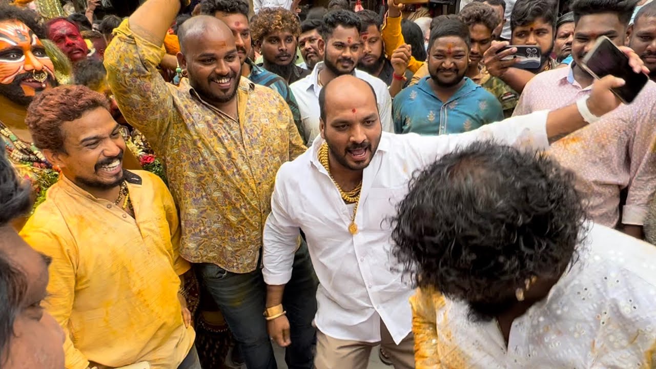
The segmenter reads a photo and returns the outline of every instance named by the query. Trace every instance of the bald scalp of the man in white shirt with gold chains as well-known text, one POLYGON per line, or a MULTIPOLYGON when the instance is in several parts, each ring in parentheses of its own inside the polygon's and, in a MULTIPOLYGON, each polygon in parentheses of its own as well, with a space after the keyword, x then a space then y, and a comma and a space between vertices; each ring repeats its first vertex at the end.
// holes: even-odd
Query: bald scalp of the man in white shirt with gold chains
MULTIPOLYGON (((326 120, 326 112, 335 108, 354 109, 350 106, 373 106, 378 109, 376 93, 369 82, 350 74, 344 74, 326 83, 319 93, 321 119, 326 120)), ((355 108, 357 109, 357 108, 355 108)))

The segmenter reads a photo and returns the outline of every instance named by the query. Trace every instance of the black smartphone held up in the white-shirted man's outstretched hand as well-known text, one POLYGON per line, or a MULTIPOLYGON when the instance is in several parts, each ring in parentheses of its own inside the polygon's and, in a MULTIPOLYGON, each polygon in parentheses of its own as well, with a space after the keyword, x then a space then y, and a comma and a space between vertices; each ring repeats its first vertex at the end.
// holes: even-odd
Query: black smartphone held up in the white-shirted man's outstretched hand
POLYGON ((624 79, 625 85, 611 91, 625 104, 633 102, 649 81, 646 74, 633 72, 628 65, 628 56, 605 36, 597 39, 592 50, 583 58, 581 68, 597 79, 609 74, 624 79))

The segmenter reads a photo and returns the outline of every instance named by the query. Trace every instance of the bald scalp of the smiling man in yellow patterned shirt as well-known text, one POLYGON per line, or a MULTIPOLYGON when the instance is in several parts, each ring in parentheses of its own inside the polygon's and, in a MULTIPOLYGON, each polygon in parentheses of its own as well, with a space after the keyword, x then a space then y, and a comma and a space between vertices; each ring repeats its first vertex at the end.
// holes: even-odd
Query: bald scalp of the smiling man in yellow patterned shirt
POLYGON ((180 51, 186 54, 192 43, 202 42, 209 35, 226 39, 226 45, 235 43, 232 31, 222 20, 214 16, 197 15, 186 20, 178 29, 180 51))

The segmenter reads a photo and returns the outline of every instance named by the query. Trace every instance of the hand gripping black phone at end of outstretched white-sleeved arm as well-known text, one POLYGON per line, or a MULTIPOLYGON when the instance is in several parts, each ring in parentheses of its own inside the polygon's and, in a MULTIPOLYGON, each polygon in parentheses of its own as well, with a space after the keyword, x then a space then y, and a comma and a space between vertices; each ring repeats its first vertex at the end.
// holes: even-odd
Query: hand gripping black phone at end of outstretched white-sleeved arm
MULTIPOLYGON (((634 53, 632 49, 624 46, 621 46, 619 49, 628 56, 628 64, 633 68, 634 72, 649 73, 640 56, 634 53)), ((625 83, 624 79, 613 76, 605 76, 602 79, 594 81, 592 84, 592 93, 590 93, 590 98, 588 98, 588 109, 590 109, 590 113, 600 117, 617 108, 622 102, 613 94, 611 89, 622 87, 625 83)))

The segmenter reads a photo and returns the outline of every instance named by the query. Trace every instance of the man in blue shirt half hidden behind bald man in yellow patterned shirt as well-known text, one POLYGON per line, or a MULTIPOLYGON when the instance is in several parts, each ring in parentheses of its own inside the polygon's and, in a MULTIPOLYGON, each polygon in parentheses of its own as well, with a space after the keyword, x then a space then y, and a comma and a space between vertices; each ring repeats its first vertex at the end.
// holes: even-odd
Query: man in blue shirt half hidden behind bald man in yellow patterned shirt
MULTIPOLYGON (((249 3, 245 0, 202 0, 199 5, 201 14, 215 16, 228 25, 235 38, 235 46, 241 63, 241 76, 246 77, 249 81, 269 87, 277 91, 287 102, 287 106, 294 116, 294 123, 300 133, 303 135, 303 127, 300 121, 300 112, 298 111, 298 102, 289 88, 289 84, 277 74, 258 66, 249 58, 251 54, 252 37, 249 24, 249 3)), ((304 144, 307 142, 304 141, 304 144)))

